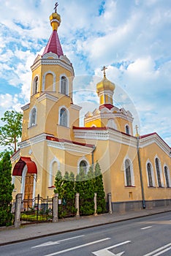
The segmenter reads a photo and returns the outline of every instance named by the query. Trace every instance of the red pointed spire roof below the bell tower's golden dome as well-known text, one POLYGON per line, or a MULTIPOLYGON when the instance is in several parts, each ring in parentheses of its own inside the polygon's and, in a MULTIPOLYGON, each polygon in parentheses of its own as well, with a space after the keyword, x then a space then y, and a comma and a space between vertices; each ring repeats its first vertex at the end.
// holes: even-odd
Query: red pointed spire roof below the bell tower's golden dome
POLYGON ((61 55, 64 56, 63 50, 61 48, 61 43, 58 38, 58 33, 56 30, 53 30, 42 56, 44 56, 46 53, 50 53, 50 52, 56 53, 58 55, 58 57, 60 57, 61 55))

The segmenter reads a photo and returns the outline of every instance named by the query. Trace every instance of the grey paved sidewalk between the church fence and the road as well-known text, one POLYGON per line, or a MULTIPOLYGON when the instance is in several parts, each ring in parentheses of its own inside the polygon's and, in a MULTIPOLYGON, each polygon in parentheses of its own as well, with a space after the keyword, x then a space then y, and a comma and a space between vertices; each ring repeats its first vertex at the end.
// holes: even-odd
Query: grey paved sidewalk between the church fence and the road
POLYGON ((171 206, 158 207, 155 209, 143 209, 140 211, 129 211, 124 214, 101 214, 97 217, 80 217, 80 219, 61 219, 57 223, 38 223, 24 225, 18 229, 14 227, 0 227, 0 246, 26 241, 43 236, 65 233, 73 230, 81 230, 87 227, 95 227, 113 222, 121 222, 128 219, 136 219, 153 214, 171 211, 171 206))

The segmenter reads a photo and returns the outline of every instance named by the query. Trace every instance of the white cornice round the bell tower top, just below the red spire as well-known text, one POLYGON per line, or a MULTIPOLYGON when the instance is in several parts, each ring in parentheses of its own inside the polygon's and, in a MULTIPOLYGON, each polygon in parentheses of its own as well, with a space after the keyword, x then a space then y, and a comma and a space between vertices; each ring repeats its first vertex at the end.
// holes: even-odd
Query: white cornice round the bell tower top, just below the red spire
POLYGON ((72 72, 72 75, 74 76, 74 69, 72 65, 67 64, 66 61, 62 61, 61 59, 39 59, 35 64, 31 66, 32 72, 40 65, 59 65, 72 72))

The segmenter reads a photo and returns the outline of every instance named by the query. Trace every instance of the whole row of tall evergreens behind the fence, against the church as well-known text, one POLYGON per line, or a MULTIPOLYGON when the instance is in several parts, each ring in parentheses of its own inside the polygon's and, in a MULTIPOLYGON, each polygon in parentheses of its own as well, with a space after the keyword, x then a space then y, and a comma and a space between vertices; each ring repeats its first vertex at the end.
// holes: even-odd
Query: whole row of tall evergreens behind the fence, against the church
POLYGON ((75 214, 75 193, 80 194, 80 214, 94 214, 94 192, 97 193, 97 213, 105 212, 105 194, 102 181, 102 173, 99 163, 96 162, 95 172, 92 167, 89 168, 86 174, 83 167, 80 167, 80 173, 76 178, 74 173, 66 172, 64 177, 58 170, 55 181, 55 193, 58 193, 58 198, 61 199, 61 204, 58 205, 58 217, 64 218, 67 214, 75 214))

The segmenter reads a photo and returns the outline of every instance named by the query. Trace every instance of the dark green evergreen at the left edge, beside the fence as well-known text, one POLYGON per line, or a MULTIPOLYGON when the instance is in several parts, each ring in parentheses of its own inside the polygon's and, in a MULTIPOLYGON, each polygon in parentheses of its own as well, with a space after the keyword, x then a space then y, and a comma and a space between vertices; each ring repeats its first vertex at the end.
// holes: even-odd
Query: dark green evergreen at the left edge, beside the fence
POLYGON ((11 181, 10 155, 6 151, 0 160, 0 226, 12 225, 11 201, 14 185, 11 181))

